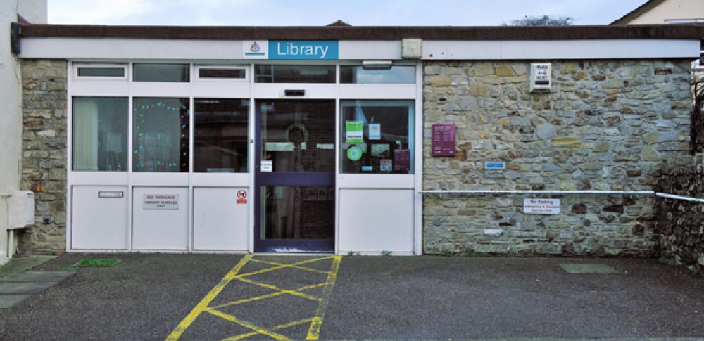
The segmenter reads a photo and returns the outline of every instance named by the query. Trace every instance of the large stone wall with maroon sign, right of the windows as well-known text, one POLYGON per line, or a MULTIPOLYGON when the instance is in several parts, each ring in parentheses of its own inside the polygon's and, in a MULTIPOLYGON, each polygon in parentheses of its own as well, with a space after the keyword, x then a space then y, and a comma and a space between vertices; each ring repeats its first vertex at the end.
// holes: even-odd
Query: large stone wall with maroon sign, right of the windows
MULTIPOLYGON (((550 61, 550 60, 546 60, 550 61)), ((425 190, 650 191, 689 143, 686 60, 552 61, 529 94, 528 62, 433 62, 424 70, 425 190), (434 123, 456 157, 431 157, 434 123), (484 162, 505 162, 503 171, 484 162)), ((655 255, 652 195, 427 195, 426 253, 655 255), (524 198, 560 214, 523 214, 524 198)))

